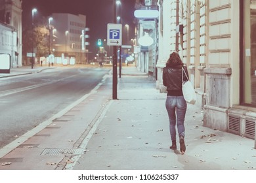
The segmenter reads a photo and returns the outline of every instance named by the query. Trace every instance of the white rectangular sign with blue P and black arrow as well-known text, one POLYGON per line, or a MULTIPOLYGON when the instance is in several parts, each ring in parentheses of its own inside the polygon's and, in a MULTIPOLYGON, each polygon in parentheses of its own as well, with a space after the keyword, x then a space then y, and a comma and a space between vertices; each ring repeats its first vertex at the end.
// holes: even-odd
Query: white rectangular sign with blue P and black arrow
POLYGON ((122 24, 108 24, 108 46, 122 45, 122 24))

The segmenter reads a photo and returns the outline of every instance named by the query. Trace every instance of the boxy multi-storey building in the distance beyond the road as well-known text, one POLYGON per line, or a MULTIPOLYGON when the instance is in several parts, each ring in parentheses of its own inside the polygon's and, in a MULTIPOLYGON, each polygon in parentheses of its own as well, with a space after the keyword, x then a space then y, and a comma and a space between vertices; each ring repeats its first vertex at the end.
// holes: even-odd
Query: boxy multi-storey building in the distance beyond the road
POLYGON ((86 63, 86 16, 54 13, 52 17, 54 56, 64 55, 75 58, 76 63, 86 63))

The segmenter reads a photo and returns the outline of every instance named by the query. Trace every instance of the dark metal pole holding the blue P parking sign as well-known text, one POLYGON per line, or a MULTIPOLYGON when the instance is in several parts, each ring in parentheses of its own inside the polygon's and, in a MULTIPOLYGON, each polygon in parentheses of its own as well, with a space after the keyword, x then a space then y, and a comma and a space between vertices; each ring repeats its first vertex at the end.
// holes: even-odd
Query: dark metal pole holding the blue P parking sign
MULTIPOLYGON (((116 0, 114 0, 114 24, 116 24, 116 0)), ((117 46, 113 46, 113 83, 112 83, 112 99, 117 99, 117 46)))

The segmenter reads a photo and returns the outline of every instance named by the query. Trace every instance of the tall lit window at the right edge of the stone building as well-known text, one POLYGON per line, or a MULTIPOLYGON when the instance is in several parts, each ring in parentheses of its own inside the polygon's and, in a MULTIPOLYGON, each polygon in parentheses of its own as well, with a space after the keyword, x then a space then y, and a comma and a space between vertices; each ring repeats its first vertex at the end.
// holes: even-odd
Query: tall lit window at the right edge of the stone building
POLYGON ((243 42, 241 73, 242 104, 256 106, 256 0, 242 1, 243 42))

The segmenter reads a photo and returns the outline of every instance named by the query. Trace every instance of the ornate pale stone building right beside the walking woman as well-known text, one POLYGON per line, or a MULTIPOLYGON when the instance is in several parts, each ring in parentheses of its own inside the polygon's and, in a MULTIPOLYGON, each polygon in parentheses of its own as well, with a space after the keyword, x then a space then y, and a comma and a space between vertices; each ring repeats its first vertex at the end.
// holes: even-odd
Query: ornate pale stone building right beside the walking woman
POLYGON ((255 139, 256 1, 159 0, 158 5, 157 88, 165 91, 162 69, 169 54, 179 51, 196 88, 196 105, 203 108, 203 125, 255 139))

